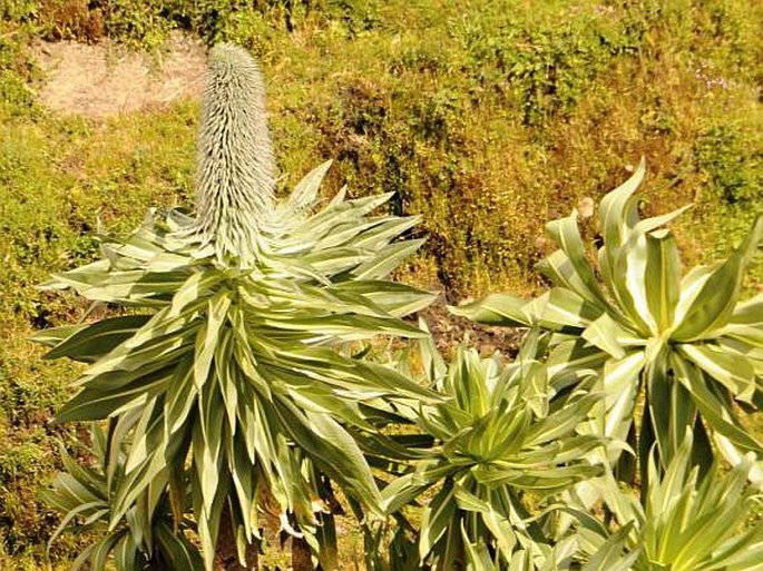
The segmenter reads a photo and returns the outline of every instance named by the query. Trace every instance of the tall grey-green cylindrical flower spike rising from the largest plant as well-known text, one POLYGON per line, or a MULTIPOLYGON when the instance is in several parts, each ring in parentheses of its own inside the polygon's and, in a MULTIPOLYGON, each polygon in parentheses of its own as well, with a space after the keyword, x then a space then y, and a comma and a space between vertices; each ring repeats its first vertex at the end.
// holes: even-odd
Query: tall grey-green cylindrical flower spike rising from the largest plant
POLYGON ((267 129, 265 86, 243 49, 209 52, 198 137, 198 232, 224 264, 250 266, 275 206, 275 161, 267 129))

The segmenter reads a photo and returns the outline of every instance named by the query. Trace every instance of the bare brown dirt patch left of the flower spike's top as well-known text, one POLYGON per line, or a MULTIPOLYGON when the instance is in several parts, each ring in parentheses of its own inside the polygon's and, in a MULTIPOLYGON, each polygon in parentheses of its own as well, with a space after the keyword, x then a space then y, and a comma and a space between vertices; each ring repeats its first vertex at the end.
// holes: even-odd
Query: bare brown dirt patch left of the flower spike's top
POLYGON ((204 46, 182 33, 173 33, 156 55, 108 41, 39 41, 32 50, 47 76, 40 101, 67 115, 101 118, 163 108, 198 97, 204 86, 204 46))

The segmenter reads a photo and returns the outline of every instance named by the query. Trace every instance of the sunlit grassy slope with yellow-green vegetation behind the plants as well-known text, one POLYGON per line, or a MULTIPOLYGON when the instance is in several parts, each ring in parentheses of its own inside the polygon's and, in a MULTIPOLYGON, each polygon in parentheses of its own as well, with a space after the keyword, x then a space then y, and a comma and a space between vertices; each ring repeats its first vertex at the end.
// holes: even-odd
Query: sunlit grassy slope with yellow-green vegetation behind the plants
POLYGON ((176 26, 247 46, 270 82, 284 184, 334 158, 326 195, 343 183, 353 195, 397 190, 393 208, 421 214, 429 238, 402 277, 453 301, 541 287, 545 221, 597 200, 642 155, 647 213, 695 203, 677 225, 691 262, 726 252, 763 210, 763 6, 319 2, 297 6, 290 32, 281 9, 95 3, 100 29, 87 10, 50 8, 66 2, 20 0, 0 24, 0 552, 14 557, 2 569, 39 561, 55 518, 35 490, 56 465, 52 437, 77 436, 48 424, 75 371, 25 338, 85 307, 33 286, 96 255, 97 217, 125 233, 149 206, 188 204, 197 121, 193 104, 107 121, 40 109, 27 87, 39 80, 25 51, 33 37, 153 46, 176 26))

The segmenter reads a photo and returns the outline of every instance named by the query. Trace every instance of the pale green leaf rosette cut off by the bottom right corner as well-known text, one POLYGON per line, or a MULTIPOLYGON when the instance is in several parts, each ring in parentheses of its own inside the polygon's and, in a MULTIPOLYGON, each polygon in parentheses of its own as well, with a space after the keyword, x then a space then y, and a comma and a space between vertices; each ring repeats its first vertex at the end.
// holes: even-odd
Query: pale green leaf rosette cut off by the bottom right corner
POLYGON ((649 491, 644 505, 622 491, 612 474, 605 479, 604 498, 620 526, 609 534, 590 528, 586 550, 595 554, 584 571, 750 571, 763 561, 763 522, 751 512, 761 499, 747 485, 754 465, 749 453, 731 471, 713 464, 700 480, 692 464, 693 435, 661 470, 650 455, 649 491))

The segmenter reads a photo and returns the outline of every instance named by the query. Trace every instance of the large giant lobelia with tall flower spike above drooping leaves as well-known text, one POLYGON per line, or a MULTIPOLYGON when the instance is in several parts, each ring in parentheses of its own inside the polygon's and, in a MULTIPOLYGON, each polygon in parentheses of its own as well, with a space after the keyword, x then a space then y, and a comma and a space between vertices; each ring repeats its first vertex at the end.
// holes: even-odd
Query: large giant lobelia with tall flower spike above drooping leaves
POLYGON ((390 195, 346 200, 343 190, 312 214, 329 164, 276 200, 260 72, 232 46, 209 60, 196 214, 151 210, 126 239, 104 236, 104 259, 47 287, 125 314, 37 339, 48 358, 89 364, 57 421, 108 421, 110 530, 141 499, 154 513, 166 491, 177 522, 193 513, 206 569, 222 526, 244 564, 266 512, 331 569, 330 482, 365 513, 381 510, 354 435, 395 402, 432 397, 338 351, 422 334, 400 317, 432 295, 387 278, 420 246, 394 242, 417 219, 373 216, 390 195))

